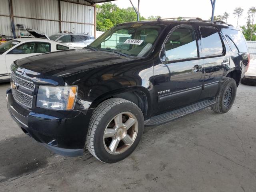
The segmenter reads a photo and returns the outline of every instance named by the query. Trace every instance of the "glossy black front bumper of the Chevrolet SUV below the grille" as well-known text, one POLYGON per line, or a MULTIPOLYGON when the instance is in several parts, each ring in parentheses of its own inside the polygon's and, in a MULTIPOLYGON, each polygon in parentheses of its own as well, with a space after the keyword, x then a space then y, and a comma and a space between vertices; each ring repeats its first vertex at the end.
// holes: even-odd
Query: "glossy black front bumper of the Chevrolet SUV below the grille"
POLYGON ((6 94, 8 111, 24 133, 57 154, 83 155, 92 109, 57 111, 34 108, 28 110, 13 100, 10 89, 6 94))

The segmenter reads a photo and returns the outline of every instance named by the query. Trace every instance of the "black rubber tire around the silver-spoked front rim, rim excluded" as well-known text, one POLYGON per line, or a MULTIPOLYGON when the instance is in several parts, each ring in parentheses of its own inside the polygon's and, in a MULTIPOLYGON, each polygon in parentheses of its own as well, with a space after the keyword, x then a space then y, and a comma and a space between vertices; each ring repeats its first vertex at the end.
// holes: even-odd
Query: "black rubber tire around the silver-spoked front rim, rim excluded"
POLYGON ((135 150, 140 142, 143 130, 144 117, 140 108, 128 100, 111 98, 100 103, 94 109, 86 136, 86 148, 98 160, 105 163, 115 163, 128 157, 135 150), (106 149, 106 144, 104 144, 104 132, 111 120, 123 112, 129 112, 136 117, 137 133, 133 143, 126 151, 121 154, 110 154, 106 149))

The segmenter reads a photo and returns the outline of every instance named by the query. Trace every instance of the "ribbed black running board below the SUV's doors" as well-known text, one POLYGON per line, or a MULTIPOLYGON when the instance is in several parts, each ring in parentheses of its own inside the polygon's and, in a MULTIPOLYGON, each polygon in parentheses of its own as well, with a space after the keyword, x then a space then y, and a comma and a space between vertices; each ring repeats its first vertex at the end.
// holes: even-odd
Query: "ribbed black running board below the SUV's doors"
POLYGON ((203 100, 200 101, 198 103, 171 111, 171 112, 167 112, 158 116, 154 116, 152 118, 150 118, 150 120, 148 122, 145 123, 145 126, 152 126, 152 125, 160 125, 160 124, 164 124, 167 122, 170 122, 172 120, 175 120, 177 118, 180 118, 182 116, 185 116, 187 114, 191 114, 193 112, 202 110, 204 108, 207 108, 213 104, 215 104, 215 99, 213 100, 203 100))

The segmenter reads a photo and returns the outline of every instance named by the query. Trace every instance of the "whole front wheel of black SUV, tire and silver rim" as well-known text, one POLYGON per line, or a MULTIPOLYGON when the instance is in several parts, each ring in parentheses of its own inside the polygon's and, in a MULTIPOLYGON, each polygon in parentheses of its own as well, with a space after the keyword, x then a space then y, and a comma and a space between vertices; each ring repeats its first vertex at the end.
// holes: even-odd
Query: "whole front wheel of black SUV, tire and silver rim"
POLYGON ((118 162, 135 150, 143 129, 144 117, 136 104, 122 98, 111 98, 94 109, 86 148, 102 162, 118 162))

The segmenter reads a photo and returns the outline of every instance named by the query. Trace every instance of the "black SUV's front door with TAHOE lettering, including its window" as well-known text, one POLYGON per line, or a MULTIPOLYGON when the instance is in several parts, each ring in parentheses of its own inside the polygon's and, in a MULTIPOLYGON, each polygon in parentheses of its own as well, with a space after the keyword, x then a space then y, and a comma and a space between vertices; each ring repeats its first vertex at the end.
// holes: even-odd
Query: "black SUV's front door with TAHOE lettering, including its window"
POLYGON ((203 85, 198 36, 190 25, 172 29, 154 65, 155 115, 197 102, 203 85))

